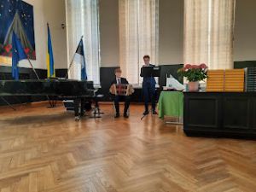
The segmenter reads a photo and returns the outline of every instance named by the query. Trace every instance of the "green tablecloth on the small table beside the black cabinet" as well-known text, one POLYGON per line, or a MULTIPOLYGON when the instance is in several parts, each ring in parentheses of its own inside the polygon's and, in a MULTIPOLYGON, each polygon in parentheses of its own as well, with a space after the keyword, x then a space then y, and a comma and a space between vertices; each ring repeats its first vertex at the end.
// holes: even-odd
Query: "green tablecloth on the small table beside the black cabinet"
POLYGON ((159 117, 183 117, 183 92, 162 91, 158 102, 159 117))

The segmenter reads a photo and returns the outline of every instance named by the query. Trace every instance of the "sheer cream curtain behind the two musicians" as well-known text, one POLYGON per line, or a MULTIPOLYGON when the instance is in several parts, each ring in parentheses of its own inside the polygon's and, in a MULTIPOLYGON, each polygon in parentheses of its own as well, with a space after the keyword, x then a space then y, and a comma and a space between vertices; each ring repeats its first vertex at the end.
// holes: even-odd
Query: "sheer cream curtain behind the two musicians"
POLYGON ((157 64, 159 50, 159 0, 119 0, 120 67, 131 84, 139 77, 143 55, 157 64))

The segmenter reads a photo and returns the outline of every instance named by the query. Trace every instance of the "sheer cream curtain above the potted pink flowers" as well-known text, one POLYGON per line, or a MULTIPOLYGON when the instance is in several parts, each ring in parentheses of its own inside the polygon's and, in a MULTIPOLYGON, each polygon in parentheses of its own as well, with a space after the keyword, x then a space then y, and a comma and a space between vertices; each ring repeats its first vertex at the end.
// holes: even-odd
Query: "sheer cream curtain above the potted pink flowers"
POLYGON ((236 0, 185 0, 184 63, 233 68, 236 0))

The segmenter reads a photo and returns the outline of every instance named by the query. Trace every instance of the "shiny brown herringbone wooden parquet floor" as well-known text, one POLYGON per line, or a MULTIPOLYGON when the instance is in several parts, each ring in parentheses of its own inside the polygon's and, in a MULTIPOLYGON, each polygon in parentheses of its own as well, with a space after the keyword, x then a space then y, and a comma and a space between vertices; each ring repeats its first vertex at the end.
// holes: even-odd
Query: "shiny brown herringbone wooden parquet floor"
POLYGON ((256 191, 256 142, 186 137, 157 116, 75 122, 62 106, 0 108, 1 192, 256 191))

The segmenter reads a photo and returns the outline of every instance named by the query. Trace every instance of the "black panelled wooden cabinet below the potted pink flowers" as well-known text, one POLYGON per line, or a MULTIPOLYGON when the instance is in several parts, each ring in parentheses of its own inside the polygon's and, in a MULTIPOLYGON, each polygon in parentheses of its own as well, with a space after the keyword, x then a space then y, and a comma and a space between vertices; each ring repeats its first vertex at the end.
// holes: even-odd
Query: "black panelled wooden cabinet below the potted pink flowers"
POLYGON ((256 93, 185 93, 188 136, 256 138, 256 93))

